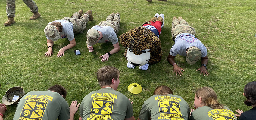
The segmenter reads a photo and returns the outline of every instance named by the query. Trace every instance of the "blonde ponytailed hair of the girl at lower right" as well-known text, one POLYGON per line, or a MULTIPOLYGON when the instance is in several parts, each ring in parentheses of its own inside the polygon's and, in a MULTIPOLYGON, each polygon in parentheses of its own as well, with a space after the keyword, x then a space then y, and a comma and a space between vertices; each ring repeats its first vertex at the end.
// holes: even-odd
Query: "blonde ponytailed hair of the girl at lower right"
POLYGON ((223 109, 223 104, 220 104, 217 100, 217 94, 212 88, 201 87, 195 92, 196 96, 202 98, 202 102, 212 109, 223 109))

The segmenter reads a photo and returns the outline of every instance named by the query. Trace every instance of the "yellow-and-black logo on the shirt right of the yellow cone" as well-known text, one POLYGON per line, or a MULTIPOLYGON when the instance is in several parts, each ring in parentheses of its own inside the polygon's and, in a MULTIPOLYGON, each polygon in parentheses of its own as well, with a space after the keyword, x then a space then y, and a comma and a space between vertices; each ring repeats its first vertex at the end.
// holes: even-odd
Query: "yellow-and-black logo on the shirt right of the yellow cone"
POLYGON ((179 118, 180 104, 176 99, 164 98, 158 100, 159 111, 161 117, 179 118))

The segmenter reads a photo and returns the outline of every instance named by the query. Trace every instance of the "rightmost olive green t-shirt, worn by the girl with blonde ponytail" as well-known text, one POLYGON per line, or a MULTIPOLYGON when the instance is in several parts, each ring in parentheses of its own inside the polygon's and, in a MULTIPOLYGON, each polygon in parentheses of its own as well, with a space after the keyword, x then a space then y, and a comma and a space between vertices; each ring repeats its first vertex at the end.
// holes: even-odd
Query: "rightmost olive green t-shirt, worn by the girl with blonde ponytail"
POLYGON ((190 120, 237 120, 237 118, 233 111, 226 106, 224 109, 203 106, 191 112, 190 120))

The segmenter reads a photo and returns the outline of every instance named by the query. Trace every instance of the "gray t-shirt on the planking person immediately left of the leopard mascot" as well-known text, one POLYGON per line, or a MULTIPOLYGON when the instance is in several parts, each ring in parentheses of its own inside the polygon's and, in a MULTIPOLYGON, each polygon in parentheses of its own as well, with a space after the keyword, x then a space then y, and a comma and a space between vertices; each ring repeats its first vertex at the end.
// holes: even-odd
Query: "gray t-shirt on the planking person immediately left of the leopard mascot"
POLYGON ((103 35, 103 38, 99 40, 99 43, 112 42, 113 45, 118 43, 117 34, 110 26, 93 26, 92 28, 100 31, 103 35))

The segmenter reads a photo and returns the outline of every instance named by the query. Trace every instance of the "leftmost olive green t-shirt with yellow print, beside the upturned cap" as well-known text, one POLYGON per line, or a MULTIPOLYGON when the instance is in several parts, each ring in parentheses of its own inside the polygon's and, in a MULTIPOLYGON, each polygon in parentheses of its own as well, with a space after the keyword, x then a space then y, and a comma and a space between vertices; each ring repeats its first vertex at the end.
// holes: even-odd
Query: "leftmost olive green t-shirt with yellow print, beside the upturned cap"
POLYGON ((17 104, 13 120, 68 120, 69 105, 57 92, 32 91, 17 104))

